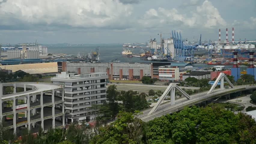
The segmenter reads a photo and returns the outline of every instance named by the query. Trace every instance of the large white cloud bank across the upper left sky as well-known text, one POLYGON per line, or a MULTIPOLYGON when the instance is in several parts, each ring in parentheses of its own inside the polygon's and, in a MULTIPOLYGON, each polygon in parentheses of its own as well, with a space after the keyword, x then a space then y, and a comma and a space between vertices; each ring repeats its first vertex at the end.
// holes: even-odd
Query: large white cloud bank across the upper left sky
POLYGON ((1 4, 0 19, 11 17, 30 24, 73 27, 122 26, 132 6, 118 0, 12 0, 1 4))

